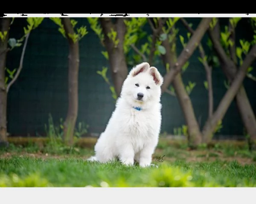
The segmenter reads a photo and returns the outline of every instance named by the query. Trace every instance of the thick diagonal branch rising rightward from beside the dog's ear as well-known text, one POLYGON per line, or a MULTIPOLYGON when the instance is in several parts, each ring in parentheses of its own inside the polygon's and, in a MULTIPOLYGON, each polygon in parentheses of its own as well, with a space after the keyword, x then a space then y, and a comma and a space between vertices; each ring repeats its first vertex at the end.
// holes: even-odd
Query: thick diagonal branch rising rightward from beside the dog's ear
POLYGON ((191 57, 195 48, 198 46, 201 39, 204 37, 205 32, 209 28, 209 23, 211 23, 212 18, 203 18, 198 25, 195 33, 189 40, 186 47, 181 52, 180 56, 175 63, 174 68, 172 68, 165 76, 162 85, 162 93, 168 88, 169 84, 172 82, 174 77, 181 71, 181 68, 186 63, 186 61, 191 57))

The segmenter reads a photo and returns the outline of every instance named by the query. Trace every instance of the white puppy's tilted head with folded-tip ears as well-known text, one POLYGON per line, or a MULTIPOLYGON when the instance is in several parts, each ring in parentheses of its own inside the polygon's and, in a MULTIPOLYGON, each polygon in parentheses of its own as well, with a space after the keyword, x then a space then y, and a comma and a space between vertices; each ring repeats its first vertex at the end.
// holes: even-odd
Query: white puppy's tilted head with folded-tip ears
POLYGON ((163 77, 155 67, 143 62, 134 67, 122 86, 121 96, 133 106, 147 107, 159 102, 163 77))

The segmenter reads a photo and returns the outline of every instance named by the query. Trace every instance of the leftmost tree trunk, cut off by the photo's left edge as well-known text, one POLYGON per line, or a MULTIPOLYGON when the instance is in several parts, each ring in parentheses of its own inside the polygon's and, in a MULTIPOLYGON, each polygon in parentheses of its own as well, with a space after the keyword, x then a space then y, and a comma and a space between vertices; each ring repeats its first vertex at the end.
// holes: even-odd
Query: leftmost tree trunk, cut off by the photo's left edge
POLYGON ((7 91, 5 83, 6 53, 9 39, 10 18, 0 18, 0 31, 7 31, 5 39, 0 39, 0 146, 8 146, 7 141, 7 91))

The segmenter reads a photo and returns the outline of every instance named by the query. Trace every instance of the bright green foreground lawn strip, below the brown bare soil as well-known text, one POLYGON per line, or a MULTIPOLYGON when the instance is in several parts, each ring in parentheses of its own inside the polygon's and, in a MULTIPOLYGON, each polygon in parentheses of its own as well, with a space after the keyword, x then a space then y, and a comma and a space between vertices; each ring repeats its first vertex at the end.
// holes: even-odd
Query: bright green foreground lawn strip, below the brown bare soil
POLYGON ((12 156, 0 159, 0 187, 256 187, 255 164, 177 160, 157 165, 141 168, 117 161, 12 156))

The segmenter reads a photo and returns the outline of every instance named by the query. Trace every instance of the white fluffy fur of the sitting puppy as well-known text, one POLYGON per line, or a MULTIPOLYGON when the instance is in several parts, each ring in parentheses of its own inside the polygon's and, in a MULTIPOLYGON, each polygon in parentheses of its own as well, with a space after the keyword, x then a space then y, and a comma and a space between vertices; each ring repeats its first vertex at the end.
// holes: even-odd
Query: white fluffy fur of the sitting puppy
POLYGON ((141 167, 151 164, 162 119, 162 83, 163 77, 157 68, 150 67, 147 62, 130 71, 108 125, 95 145, 96 154, 89 161, 105 163, 118 158, 126 165, 133 165, 134 160, 141 167), (142 72, 138 74, 138 71, 142 72), (135 84, 139 84, 139 87, 135 84), (137 99, 138 93, 144 94, 143 101, 137 99), (142 110, 138 111, 133 107, 140 107, 142 110))

